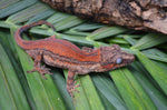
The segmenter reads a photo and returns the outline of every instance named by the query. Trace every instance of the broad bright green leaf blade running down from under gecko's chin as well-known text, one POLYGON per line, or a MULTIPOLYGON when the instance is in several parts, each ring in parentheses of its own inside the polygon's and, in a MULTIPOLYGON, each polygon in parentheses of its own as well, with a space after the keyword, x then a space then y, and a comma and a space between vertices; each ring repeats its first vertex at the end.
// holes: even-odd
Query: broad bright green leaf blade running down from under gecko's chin
POLYGON ((111 71, 110 76, 129 110, 156 110, 150 98, 128 69, 111 71))

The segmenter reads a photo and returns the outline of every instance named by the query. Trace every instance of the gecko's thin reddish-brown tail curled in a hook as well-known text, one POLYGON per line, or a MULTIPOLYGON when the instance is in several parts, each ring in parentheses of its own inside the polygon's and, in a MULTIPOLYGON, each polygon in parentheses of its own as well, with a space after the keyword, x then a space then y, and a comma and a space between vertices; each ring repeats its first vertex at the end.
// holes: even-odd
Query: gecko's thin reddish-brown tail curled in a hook
POLYGON ((17 41, 17 43, 18 43, 20 47, 23 48, 23 47, 24 47, 23 42, 27 42, 27 43, 28 43, 28 42, 31 42, 31 41, 26 41, 26 40, 23 40, 23 39, 21 38, 21 33, 22 33, 23 31, 27 31, 28 29, 30 29, 30 28, 32 28, 32 27, 40 26, 40 24, 47 24, 47 26, 49 26, 50 28, 52 28, 53 31, 56 31, 55 27, 53 27, 51 23, 47 22, 47 21, 37 21, 37 22, 33 22, 33 23, 30 23, 30 24, 26 24, 26 26, 19 28, 19 29, 17 30, 16 34, 14 34, 14 40, 17 41))

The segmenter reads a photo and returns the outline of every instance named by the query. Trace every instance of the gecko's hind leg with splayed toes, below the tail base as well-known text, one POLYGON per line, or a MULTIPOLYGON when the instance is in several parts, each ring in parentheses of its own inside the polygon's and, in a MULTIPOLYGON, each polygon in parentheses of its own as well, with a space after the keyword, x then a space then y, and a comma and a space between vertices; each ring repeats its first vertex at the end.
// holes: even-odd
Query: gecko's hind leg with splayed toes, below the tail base
POLYGON ((40 50, 39 51, 37 51, 37 50, 27 50, 27 53, 31 58, 35 59, 33 69, 30 70, 30 71, 27 71, 28 73, 38 71, 43 79, 46 79, 45 73, 52 74, 51 72, 49 72, 49 70, 50 70, 49 68, 46 68, 46 66, 41 66, 42 51, 40 51, 40 50))

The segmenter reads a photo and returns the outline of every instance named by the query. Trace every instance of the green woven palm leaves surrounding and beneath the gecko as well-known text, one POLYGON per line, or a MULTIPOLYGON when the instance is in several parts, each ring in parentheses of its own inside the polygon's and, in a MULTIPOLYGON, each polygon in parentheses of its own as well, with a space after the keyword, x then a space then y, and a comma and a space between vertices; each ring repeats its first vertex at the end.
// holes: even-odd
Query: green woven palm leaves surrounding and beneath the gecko
POLYGON ((0 0, 0 110, 166 110, 167 36, 134 31, 81 20, 38 0, 0 0), (14 31, 27 23, 46 20, 56 27, 32 28, 23 39, 56 34, 78 47, 117 43, 134 53, 128 67, 105 73, 77 76, 79 93, 66 90, 67 70, 51 68, 42 79, 31 58, 16 44, 14 31))

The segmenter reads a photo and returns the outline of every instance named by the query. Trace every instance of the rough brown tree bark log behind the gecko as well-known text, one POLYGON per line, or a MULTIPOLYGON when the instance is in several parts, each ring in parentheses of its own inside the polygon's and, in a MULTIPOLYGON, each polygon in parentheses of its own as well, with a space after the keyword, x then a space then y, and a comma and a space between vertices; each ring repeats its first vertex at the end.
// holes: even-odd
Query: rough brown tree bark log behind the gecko
POLYGON ((167 0, 42 0, 96 22, 167 34, 167 0))

